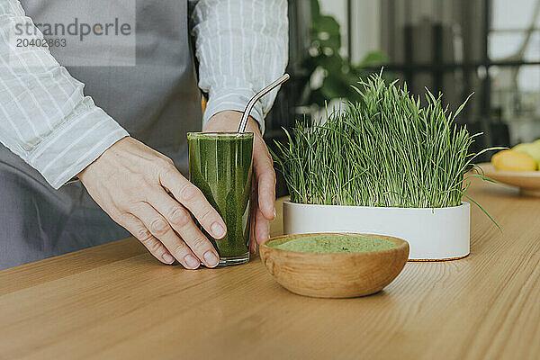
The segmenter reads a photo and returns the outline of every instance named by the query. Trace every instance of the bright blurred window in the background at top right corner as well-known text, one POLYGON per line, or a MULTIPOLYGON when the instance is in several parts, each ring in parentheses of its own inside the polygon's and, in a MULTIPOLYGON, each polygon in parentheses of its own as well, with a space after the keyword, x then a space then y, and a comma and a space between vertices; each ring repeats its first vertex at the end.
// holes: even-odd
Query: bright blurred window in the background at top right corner
POLYGON ((540 138, 540 0, 492 0, 491 109, 510 145, 540 138))

